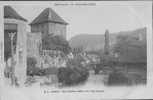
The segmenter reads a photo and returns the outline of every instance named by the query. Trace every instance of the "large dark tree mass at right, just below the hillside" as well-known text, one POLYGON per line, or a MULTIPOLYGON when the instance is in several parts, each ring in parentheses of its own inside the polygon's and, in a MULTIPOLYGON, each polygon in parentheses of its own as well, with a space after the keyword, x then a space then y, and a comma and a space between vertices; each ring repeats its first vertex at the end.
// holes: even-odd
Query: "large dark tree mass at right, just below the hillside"
POLYGON ((114 52, 122 62, 146 62, 146 41, 128 35, 117 37, 114 52))

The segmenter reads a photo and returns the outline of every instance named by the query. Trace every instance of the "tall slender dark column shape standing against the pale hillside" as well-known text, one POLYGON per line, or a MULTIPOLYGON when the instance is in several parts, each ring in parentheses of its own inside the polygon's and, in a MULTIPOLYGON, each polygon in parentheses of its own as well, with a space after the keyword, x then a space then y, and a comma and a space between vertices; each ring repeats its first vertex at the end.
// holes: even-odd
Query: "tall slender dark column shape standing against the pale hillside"
POLYGON ((109 31, 108 30, 105 31, 105 45, 104 46, 105 46, 104 53, 108 55, 109 54, 109 31))

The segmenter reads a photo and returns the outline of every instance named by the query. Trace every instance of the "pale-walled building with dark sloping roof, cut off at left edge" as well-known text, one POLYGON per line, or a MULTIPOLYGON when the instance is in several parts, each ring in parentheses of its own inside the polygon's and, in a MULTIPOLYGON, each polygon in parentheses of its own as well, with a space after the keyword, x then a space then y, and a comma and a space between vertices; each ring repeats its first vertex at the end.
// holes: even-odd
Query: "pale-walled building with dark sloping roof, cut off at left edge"
POLYGON ((19 84, 26 79, 26 22, 11 6, 4 6, 4 58, 15 58, 15 76, 19 84), (11 45, 10 34, 14 34, 13 45, 11 45), (11 50, 13 46, 13 51, 11 50))

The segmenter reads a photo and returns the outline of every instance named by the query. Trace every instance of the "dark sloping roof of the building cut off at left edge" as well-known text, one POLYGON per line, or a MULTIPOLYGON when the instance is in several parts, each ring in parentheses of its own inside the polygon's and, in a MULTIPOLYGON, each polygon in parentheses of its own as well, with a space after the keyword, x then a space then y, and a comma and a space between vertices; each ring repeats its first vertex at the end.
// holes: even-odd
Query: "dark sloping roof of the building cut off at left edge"
POLYGON ((11 6, 4 6, 4 18, 27 21, 25 18, 20 16, 11 6))

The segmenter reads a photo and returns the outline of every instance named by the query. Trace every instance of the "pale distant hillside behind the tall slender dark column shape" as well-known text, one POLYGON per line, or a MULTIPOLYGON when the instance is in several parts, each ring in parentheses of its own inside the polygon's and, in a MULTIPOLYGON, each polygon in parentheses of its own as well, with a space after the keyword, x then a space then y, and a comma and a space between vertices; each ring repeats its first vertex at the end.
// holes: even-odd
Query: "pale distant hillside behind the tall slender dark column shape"
MULTIPOLYGON (((110 46, 112 47, 117 42, 117 37, 122 35, 127 35, 133 38, 139 37, 141 34, 143 40, 146 41, 146 28, 140 28, 132 31, 123 31, 118 33, 110 33, 110 46)), ((105 44, 104 35, 89 35, 81 34, 72 37, 69 40, 69 44, 72 48, 82 47, 85 51, 99 51, 103 50, 105 44)))

